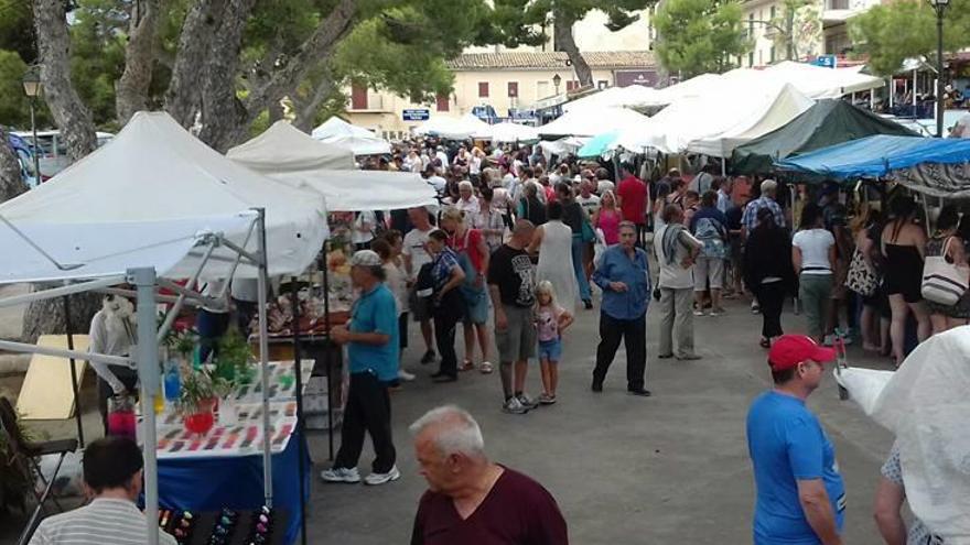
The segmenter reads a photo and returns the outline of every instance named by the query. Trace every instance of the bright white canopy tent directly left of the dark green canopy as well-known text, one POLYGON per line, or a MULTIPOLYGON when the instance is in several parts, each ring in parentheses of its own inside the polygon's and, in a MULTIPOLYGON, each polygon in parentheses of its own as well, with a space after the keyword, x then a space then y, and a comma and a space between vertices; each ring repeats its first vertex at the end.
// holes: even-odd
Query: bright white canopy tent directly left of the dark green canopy
POLYGON ((724 86, 722 92, 686 98, 622 131, 616 144, 633 152, 694 152, 724 157, 751 139, 784 126, 813 101, 791 85, 724 86), (725 105, 731 105, 726 108, 725 105))

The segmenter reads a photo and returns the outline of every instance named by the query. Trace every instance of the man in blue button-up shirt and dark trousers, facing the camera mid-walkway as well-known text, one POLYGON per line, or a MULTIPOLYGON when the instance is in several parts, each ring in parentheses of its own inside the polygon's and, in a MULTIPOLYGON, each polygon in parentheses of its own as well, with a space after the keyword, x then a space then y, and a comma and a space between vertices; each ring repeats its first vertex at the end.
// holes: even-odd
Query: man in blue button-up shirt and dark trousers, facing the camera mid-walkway
POLYGON ((606 249, 593 282, 603 290, 600 305, 600 346, 593 370, 593 391, 603 391, 603 380, 613 363, 619 341, 626 345, 626 390, 648 396, 644 389, 647 369, 647 303, 650 298, 650 271, 647 253, 636 247, 637 231, 632 221, 619 224, 619 243, 606 249))

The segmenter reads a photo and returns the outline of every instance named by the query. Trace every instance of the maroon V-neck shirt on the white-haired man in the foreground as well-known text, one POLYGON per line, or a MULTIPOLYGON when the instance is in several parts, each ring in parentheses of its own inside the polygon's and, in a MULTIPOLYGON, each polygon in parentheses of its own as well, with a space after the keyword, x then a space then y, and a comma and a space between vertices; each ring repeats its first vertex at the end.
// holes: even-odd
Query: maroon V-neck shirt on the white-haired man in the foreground
POLYGON ((451 498, 424 492, 411 545, 568 545, 565 520, 552 494, 522 473, 504 469, 464 520, 451 498))

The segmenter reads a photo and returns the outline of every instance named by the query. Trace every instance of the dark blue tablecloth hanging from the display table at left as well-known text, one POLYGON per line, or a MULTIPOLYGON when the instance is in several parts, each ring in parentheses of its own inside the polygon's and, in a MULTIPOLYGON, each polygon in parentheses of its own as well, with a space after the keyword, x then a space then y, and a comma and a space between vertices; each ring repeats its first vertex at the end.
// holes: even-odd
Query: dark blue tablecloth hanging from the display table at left
MULTIPOLYGON (((300 535, 300 445, 299 432, 287 448, 272 457, 273 508, 285 510, 289 524, 281 543, 292 544, 300 535)), ((306 459, 304 491, 310 497, 310 457, 306 459)), ((159 504, 162 509, 218 511, 259 509, 262 494, 262 455, 236 458, 194 458, 159 460, 159 504)))

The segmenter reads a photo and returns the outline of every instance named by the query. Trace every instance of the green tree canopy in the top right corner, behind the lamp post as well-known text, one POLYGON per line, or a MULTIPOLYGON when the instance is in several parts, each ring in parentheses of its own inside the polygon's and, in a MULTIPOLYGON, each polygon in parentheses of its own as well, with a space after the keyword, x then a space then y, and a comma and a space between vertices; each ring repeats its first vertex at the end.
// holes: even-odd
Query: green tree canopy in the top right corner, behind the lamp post
MULTIPOLYGON (((944 13, 944 48, 970 46, 970 0, 951 0, 944 13)), ((849 20, 854 53, 869 57, 875 74, 895 74, 906 58, 936 58, 936 12, 927 2, 899 0, 872 7, 849 20)))

